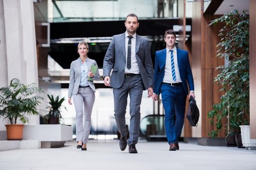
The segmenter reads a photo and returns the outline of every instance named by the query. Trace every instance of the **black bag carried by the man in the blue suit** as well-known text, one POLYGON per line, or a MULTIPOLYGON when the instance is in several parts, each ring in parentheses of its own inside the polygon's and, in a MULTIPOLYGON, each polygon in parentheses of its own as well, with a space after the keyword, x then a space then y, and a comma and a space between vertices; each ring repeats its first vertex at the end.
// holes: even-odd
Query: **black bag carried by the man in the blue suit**
POLYGON ((190 97, 190 104, 187 111, 187 119, 189 120, 191 126, 196 126, 199 120, 199 110, 192 96, 190 97))

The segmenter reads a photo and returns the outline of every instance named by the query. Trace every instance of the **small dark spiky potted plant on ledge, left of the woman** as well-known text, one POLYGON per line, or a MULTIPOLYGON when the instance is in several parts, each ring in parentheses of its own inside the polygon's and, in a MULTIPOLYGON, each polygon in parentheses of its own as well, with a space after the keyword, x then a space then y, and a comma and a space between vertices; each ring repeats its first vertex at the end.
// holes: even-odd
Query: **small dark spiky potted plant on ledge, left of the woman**
MULTIPOLYGON (((48 106, 47 108, 50 108, 49 113, 44 116, 44 123, 45 124, 60 124, 60 119, 62 118, 61 115, 61 106, 62 103, 64 102, 64 98, 59 100, 59 96, 57 96, 55 99, 53 98, 53 95, 49 96, 49 104, 51 106, 48 106)), ((65 109, 66 107, 63 106, 65 109)))

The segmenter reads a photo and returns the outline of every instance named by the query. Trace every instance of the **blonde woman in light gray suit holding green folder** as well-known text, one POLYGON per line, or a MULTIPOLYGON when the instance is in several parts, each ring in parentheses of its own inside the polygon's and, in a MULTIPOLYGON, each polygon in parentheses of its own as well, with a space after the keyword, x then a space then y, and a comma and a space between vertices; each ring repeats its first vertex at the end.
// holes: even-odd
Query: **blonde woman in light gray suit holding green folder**
POLYGON ((95 101, 93 80, 100 79, 97 63, 95 60, 88 58, 88 51, 88 44, 85 41, 78 44, 80 57, 71 63, 70 83, 68 87, 68 103, 72 104, 71 97, 73 96, 76 110, 77 149, 81 149, 82 151, 86 151, 86 143, 91 128, 91 111, 95 101), (83 117, 85 117, 84 123, 83 117))

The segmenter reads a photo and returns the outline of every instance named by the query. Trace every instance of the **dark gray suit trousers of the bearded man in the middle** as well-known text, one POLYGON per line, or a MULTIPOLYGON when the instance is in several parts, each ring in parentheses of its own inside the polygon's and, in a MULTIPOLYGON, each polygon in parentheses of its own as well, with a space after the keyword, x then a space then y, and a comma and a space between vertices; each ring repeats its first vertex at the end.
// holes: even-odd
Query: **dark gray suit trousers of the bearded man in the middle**
POLYGON ((113 88, 115 120, 121 137, 126 136, 126 107, 128 94, 130 96, 130 127, 128 145, 138 143, 140 132, 140 104, 143 93, 141 76, 125 77, 120 88, 113 88))

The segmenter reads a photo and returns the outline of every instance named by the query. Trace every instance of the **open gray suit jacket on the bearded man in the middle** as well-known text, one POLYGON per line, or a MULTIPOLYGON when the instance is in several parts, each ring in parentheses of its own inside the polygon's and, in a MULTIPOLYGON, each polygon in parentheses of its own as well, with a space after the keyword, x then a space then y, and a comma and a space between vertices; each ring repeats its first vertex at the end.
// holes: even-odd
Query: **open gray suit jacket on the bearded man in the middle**
MULTIPOLYGON (((144 90, 153 87, 153 66, 151 54, 149 50, 148 39, 136 34, 136 59, 142 77, 144 90)), ((126 47, 125 47, 125 33, 114 35, 103 63, 103 77, 110 76, 110 86, 119 88, 125 78, 126 67, 126 47)))

